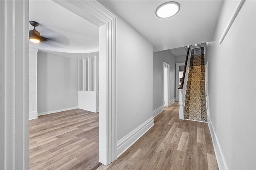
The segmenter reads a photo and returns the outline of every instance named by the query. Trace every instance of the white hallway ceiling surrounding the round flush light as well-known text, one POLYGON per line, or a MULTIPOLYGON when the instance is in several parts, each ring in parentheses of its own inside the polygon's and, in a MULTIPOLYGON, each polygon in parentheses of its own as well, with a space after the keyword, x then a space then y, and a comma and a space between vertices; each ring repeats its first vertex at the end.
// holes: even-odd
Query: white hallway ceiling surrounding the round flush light
MULTIPOLYGON (((170 0, 169 0, 170 1, 170 0)), ((147 38, 154 51, 212 41, 222 6, 219 0, 176 0, 180 11, 171 18, 155 15, 163 0, 105 0, 110 8, 147 38)))

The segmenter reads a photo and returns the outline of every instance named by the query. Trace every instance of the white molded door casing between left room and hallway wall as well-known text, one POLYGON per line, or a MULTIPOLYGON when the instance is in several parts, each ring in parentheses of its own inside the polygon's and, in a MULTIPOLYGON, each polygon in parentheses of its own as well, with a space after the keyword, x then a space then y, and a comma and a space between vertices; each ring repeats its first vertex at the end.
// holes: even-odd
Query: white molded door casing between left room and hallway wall
POLYGON ((99 27, 100 32, 100 156, 116 160, 116 16, 96 0, 54 0, 99 27))

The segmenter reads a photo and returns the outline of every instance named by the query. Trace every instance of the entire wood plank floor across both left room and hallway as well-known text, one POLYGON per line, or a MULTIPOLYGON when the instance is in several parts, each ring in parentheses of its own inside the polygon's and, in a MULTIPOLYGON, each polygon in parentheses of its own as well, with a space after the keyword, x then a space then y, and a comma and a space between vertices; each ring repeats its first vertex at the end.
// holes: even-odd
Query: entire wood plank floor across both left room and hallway
POLYGON ((207 123, 178 119, 178 102, 109 166, 98 162, 98 120, 80 109, 31 120, 30 169, 218 170, 207 123))

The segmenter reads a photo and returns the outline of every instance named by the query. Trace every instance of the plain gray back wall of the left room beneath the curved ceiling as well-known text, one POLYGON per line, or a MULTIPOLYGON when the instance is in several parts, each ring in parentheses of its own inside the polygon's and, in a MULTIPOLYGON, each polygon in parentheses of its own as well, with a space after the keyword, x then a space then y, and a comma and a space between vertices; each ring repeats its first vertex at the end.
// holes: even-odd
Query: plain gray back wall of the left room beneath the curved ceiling
POLYGON ((38 113, 78 106, 77 60, 38 51, 38 113))

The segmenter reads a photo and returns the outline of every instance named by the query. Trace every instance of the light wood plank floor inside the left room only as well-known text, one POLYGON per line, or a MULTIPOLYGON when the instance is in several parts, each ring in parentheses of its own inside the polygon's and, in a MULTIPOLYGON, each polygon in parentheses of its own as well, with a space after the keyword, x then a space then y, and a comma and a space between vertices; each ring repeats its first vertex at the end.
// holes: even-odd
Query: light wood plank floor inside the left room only
POLYGON ((95 170, 99 160, 99 113, 81 109, 29 121, 30 170, 95 170))

